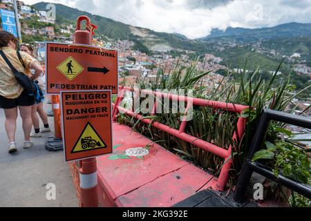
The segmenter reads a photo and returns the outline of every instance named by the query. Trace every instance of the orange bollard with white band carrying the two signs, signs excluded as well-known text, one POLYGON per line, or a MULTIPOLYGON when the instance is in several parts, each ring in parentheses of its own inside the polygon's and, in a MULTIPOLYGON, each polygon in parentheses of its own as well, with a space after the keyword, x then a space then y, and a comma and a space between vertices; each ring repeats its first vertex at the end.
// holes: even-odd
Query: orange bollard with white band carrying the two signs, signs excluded
MULTIPOLYGON (((74 35, 75 44, 86 44, 92 43, 93 35, 93 24, 91 20, 86 16, 80 16, 77 19, 77 28, 74 35), (86 30, 81 30, 82 21, 86 21, 86 30)), ((79 187, 81 193, 81 206, 82 207, 97 207, 97 164, 96 158, 90 158, 87 160, 80 161, 79 169, 79 187)))

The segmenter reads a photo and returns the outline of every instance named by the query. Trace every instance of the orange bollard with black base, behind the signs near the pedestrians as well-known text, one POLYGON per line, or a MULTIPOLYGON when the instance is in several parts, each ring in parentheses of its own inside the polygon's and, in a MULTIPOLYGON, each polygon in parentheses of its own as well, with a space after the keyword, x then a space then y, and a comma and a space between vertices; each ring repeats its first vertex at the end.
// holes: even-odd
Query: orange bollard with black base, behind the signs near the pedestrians
POLYGON ((64 146, 62 142, 59 95, 52 95, 52 107, 53 107, 53 113, 54 113, 55 136, 48 137, 48 140, 46 142, 46 149, 48 151, 62 151, 64 146))

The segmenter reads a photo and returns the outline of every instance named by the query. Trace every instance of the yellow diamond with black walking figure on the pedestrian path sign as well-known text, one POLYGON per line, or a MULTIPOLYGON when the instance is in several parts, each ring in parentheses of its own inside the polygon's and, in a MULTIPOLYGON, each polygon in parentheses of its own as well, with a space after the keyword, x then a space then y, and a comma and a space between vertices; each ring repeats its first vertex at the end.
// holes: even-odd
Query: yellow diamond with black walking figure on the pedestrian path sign
POLYGON ((79 73, 82 73, 84 68, 73 57, 68 57, 62 62, 62 64, 59 64, 59 66, 57 66, 57 70, 59 70, 71 81, 72 79, 77 77, 79 73))

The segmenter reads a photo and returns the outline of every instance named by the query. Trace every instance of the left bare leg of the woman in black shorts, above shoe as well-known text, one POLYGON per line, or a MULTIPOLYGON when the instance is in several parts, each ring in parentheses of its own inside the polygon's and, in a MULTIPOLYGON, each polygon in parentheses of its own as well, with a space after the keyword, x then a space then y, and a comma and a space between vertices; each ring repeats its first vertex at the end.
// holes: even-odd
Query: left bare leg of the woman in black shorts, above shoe
POLYGON ((6 134, 8 135, 9 144, 15 142, 17 108, 3 109, 6 115, 6 134))

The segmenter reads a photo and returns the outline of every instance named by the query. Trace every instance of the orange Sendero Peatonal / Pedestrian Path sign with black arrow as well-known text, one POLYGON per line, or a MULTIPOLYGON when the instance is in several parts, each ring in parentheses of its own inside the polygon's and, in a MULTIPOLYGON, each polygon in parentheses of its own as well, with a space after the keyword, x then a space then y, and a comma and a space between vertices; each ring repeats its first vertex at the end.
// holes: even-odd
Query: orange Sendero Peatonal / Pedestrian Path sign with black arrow
POLYGON ((117 94, 117 51, 46 43, 46 92, 111 90, 117 94))

